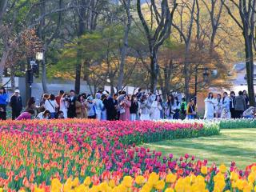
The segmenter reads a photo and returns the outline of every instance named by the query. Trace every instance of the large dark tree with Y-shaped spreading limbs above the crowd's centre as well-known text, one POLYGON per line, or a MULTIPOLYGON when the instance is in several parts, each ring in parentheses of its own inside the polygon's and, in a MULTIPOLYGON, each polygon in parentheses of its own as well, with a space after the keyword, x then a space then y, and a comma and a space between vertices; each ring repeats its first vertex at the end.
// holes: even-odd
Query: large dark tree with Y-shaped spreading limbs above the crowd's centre
MULTIPOLYGON (((156 29, 150 30, 149 24, 146 22, 142 14, 141 0, 137 0, 137 12, 146 38, 148 41, 149 52, 150 52, 150 90, 155 93, 157 89, 159 66, 158 66, 158 49, 165 42, 166 38, 170 37, 170 29, 173 22, 174 10, 177 7, 176 0, 171 2, 173 8, 170 11, 169 2, 162 0, 161 10, 159 11, 154 0, 151 0, 151 20, 155 18, 156 29)), ((153 26, 154 23, 151 23, 153 26)))

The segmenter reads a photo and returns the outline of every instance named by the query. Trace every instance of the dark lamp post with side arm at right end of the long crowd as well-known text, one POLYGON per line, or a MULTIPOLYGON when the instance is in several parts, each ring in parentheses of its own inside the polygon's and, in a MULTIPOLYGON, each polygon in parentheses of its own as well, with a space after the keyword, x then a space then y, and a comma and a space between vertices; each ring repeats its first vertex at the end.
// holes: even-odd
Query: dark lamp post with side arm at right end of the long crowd
POLYGON ((208 78, 210 76, 209 70, 211 70, 211 73, 216 76, 218 74, 218 71, 216 69, 207 68, 207 67, 198 67, 195 68, 195 76, 194 76, 194 102, 197 102, 197 94, 198 94, 198 70, 202 70, 202 77, 204 82, 208 82, 208 78))

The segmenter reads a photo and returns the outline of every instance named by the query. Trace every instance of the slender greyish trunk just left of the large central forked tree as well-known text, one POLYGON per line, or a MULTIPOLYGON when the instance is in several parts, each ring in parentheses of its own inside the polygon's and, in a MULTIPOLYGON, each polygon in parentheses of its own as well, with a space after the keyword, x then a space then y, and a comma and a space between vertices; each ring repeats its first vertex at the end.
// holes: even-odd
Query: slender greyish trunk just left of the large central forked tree
POLYGON ((124 78, 124 66, 126 64, 126 52, 127 52, 127 48, 128 48, 128 34, 130 31, 130 25, 131 25, 130 0, 127 0, 127 2, 124 3, 124 6, 126 7, 127 24, 126 24, 125 34, 123 37, 121 62, 120 62, 120 66, 119 66, 118 90, 122 90, 122 83, 123 83, 123 78, 124 78))

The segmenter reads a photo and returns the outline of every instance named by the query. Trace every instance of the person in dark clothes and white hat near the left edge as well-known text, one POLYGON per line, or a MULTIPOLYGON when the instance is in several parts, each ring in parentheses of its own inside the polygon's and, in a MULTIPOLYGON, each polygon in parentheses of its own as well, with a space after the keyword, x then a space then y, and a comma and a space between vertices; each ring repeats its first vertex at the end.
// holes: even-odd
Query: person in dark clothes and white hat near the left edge
POLYGON ((22 97, 19 90, 14 90, 14 94, 10 98, 10 107, 12 111, 11 118, 14 120, 22 112, 22 97))

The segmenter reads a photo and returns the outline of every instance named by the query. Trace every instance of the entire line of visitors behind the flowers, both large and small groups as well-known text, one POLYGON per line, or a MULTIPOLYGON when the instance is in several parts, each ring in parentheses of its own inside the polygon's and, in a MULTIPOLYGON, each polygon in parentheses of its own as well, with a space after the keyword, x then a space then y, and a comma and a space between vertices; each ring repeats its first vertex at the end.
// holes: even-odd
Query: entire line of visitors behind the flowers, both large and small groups
MULTIPOLYGON (((7 94, 4 87, 0 88, 0 119, 6 119, 7 94)), ((214 97, 209 93, 205 99, 205 119, 213 118, 254 118, 254 106, 249 106, 249 97, 246 91, 240 91, 238 96, 233 91, 230 97, 225 92, 214 97)), ((98 120, 159 120, 159 119, 194 119, 197 118, 198 109, 194 98, 186 102, 168 94, 166 101, 162 95, 151 94, 138 89, 133 95, 120 90, 110 95, 106 90, 95 95, 79 94, 74 90, 65 93, 60 90, 58 95, 42 94, 38 105, 36 99, 31 97, 22 110, 20 91, 15 90, 10 98, 12 119, 54 119, 54 118, 95 118, 98 120)))

